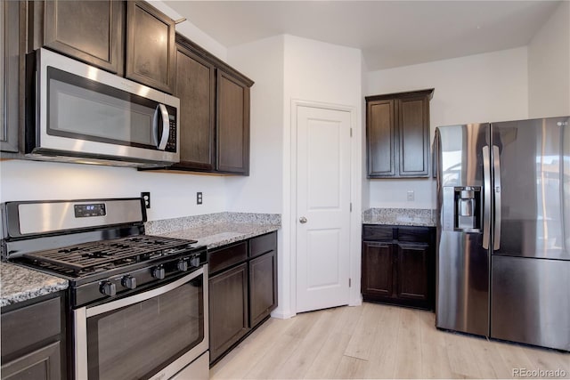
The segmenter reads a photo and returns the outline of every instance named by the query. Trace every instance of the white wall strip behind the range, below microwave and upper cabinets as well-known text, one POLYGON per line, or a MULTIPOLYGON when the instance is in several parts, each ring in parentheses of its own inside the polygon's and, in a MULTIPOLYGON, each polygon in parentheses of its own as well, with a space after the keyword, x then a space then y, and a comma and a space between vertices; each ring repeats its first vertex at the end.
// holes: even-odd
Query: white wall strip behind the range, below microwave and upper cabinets
POLYGON ((224 177, 137 172, 128 167, 24 160, 0 162, 0 201, 140 197, 151 191, 149 220, 226 210, 224 177), (204 203, 196 205, 196 191, 204 203))

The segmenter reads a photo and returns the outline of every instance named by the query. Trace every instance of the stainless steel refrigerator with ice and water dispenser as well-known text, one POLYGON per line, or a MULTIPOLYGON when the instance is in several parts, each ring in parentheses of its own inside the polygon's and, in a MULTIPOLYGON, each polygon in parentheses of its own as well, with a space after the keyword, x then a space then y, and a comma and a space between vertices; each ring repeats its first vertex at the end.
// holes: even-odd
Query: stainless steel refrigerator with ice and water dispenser
POLYGON ((570 117, 436 128, 436 326, 570 351, 570 117))

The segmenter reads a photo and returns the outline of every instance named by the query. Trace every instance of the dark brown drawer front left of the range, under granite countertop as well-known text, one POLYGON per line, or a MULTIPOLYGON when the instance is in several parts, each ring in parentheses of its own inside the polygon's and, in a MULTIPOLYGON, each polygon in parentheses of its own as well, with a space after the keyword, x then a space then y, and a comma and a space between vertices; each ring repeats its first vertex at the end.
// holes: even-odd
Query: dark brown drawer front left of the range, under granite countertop
POLYGON ((2 314, 2 356, 61 333, 60 298, 2 314))

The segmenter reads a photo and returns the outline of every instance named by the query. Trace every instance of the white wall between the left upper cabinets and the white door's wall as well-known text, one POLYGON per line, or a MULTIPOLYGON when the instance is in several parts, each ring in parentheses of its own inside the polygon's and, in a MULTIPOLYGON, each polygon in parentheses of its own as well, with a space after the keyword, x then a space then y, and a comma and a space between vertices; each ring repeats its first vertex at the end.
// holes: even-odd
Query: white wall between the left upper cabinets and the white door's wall
POLYGON ((250 91, 249 176, 226 178, 228 211, 281 214, 283 53, 283 36, 228 51, 229 63, 256 82, 250 91))

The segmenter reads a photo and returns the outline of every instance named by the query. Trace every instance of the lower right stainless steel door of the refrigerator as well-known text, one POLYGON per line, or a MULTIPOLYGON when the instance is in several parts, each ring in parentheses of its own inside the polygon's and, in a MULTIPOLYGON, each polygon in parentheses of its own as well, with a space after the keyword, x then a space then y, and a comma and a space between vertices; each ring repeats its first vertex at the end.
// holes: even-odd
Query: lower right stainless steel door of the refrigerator
POLYGON ((493 255, 491 337, 570 351, 570 261, 493 255))

